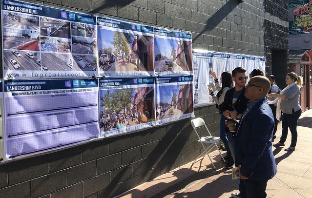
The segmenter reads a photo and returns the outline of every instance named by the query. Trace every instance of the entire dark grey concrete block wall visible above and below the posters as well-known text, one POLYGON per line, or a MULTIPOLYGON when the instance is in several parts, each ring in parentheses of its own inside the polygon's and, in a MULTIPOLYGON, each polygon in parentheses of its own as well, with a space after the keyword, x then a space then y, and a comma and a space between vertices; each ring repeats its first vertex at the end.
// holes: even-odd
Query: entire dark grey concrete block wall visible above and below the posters
MULTIPOLYGON (((267 57, 269 54, 265 52, 271 45, 269 40, 265 43, 266 20, 277 24, 284 20, 267 14, 264 1, 32 2, 190 31, 193 48, 267 57)), ((220 117, 215 105, 195 108, 194 111, 196 117, 205 119, 212 135, 217 136, 220 117)), ((194 160, 202 152, 189 120, 0 164, 0 198, 109 198, 119 195, 194 160)), ((204 136, 203 132, 201 136, 204 136)))

